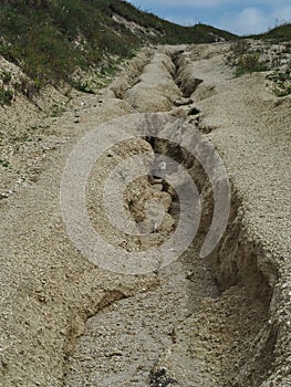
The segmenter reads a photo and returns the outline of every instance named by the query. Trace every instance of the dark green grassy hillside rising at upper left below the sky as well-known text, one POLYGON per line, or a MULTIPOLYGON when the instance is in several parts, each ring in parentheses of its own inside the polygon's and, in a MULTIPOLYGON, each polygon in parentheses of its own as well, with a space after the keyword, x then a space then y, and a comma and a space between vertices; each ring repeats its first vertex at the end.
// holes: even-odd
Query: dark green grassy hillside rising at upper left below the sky
POLYGON ((233 35, 198 24, 160 20, 121 0, 3 0, 0 55, 20 65, 40 87, 71 82, 105 56, 129 56, 144 43, 201 43, 233 35))

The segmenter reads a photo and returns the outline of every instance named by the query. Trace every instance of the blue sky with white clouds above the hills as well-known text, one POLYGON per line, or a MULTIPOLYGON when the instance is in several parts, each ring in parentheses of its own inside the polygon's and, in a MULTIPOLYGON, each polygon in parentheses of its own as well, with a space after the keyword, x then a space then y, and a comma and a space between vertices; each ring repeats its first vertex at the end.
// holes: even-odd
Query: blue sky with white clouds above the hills
POLYGON ((178 24, 211 24, 238 34, 264 32, 291 21, 291 0, 127 0, 178 24))

